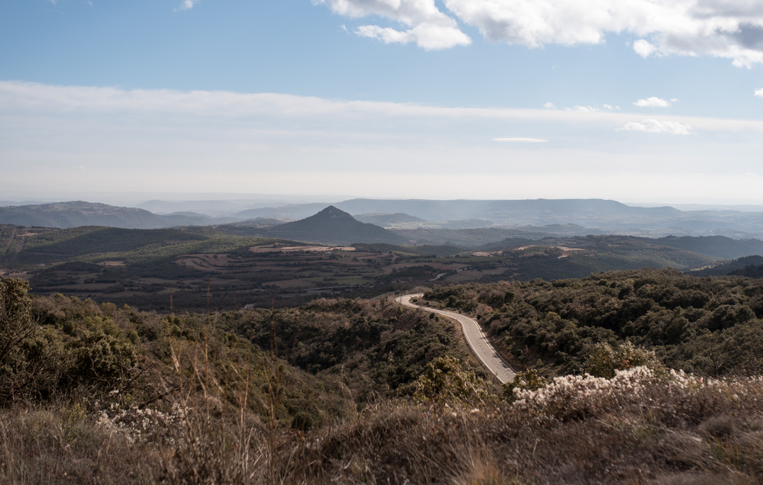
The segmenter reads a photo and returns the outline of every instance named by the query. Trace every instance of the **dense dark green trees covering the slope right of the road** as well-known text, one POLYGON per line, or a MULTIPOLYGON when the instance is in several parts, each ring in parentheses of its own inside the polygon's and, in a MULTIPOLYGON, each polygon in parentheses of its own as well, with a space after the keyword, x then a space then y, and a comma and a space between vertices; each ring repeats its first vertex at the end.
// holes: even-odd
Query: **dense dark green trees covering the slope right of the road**
POLYGON ((581 372, 595 344, 617 348, 629 341, 675 369, 763 371, 758 280, 630 270, 579 280, 443 286, 425 298, 478 315, 517 367, 581 372))

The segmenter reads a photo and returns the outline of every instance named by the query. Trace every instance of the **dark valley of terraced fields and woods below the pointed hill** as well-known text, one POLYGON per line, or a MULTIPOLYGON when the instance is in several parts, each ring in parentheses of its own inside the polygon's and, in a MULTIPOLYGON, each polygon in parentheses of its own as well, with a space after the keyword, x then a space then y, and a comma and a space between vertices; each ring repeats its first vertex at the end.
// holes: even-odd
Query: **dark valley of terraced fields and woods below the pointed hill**
POLYGON ((0 274, 33 293, 141 309, 297 306, 321 296, 371 298, 417 285, 554 280, 607 270, 693 270, 719 257, 626 236, 507 239, 494 247, 321 245, 215 228, 0 226, 0 274), (172 293, 172 297, 170 294, 172 293))

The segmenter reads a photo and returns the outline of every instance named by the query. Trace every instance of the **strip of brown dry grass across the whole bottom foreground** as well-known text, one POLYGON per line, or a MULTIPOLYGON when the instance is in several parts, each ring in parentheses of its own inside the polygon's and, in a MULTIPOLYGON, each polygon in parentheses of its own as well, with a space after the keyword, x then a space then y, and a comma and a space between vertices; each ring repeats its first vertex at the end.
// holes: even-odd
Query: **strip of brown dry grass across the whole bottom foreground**
MULTIPOLYGON (((513 404, 492 399, 479 409, 384 401, 301 433, 275 415, 243 411, 224 381, 210 385, 203 362, 201 352, 198 369, 182 373, 195 392, 184 387, 167 401, 183 407, 155 415, 153 433, 137 439, 78 406, 3 412, 0 482, 675 485, 763 477, 760 379, 665 379, 638 367, 612 380, 559 378, 519 390, 513 404)), ((267 395, 278 399, 278 367, 269 368, 267 395)))

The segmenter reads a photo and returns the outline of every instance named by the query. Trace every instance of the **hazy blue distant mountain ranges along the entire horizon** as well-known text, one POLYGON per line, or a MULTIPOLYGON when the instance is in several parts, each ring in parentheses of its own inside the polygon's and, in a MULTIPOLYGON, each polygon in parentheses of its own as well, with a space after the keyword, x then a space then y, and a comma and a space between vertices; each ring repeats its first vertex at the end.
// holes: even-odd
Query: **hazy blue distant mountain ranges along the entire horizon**
MULTIPOLYGON (((262 226, 278 221, 288 222, 309 218, 331 205, 350 215, 356 215, 359 221, 396 231, 409 231, 407 234, 398 235, 405 241, 420 241, 424 244, 462 244, 456 243, 456 239, 463 240, 463 234, 436 233, 436 231, 478 231, 480 228, 559 235, 623 234, 649 238, 668 235, 678 237, 702 235, 728 236, 737 239, 763 238, 763 212, 680 211, 672 207, 632 207, 603 199, 349 199, 335 204, 314 202, 236 211, 242 206, 256 203, 258 201, 149 201, 142 204, 143 209, 114 207, 92 202, 15 205, 0 207, 0 224, 52 228, 69 228, 79 225, 170 228, 250 221, 250 225, 262 226), (152 207, 157 211, 159 209, 179 210, 159 215, 145 210, 146 207, 152 207), (205 209, 214 212, 215 216, 195 212, 192 209, 205 209), (255 221, 257 218, 260 222, 255 221), (410 232, 420 229, 430 232, 428 234, 410 232)), ((510 234, 504 234, 494 240, 482 238, 472 243, 488 244, 507 237, 510 237, 510 234)), ((473 238, 468 236, 465 241, 471 239, 473 238)), ((388 239, 388 241, 391 240, 388 239)), ((679 243, 680 241, 677 241, 677 244, 679 243)))

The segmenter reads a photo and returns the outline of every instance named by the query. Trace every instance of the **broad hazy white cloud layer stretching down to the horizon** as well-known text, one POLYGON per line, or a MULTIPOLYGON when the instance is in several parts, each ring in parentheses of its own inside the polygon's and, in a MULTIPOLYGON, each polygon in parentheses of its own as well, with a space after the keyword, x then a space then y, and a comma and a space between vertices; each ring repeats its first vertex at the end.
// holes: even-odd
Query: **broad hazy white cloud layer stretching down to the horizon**
POLYGON ((664 126, 723 136, 634 137, 615 129, 643 116, 540 106, 461 108, 4 81, 0 106, 4 194, 87 192, 118 179, 136 192, 314 193, 320 187, 324 193, 433 199, 454 193, 621 198, 647 190, 677 196, 675 181, 685 182, 691 167, 710 174, 691 193, 720 196, 755 185, 742 174, 759 172, 763 147, 763 120, 649 115, 664 126), (536 140, 542 134, 549 141, 490 142, 494 135, 485 134, 491 133, 537 134, 536 140), (678 174, 665 176, 671 170, 678 174), (724 176, 729 186, 722 190, 724 176), (430 182, 423 189, 422 179, 430 182), (744 183, 732 183, 738 180, 744 183))

